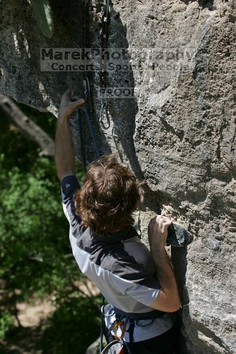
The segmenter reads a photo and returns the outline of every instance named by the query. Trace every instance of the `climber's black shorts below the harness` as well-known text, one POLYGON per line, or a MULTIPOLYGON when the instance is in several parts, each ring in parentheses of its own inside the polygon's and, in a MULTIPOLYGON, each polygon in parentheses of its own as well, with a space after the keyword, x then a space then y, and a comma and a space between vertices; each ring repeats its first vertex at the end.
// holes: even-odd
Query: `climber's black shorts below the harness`
MULTIPOLYGON (((159 336, 139 342, 126 343, 125 354, 128 354, 128 352, 132 354, 177 354, 178 333, 179 328, 175 323, 171 329, 159 336)), ((107 328, 105 327, 104 335, 107 343, 115 339, 111 334, 107 338, 106 334, 107 328)))

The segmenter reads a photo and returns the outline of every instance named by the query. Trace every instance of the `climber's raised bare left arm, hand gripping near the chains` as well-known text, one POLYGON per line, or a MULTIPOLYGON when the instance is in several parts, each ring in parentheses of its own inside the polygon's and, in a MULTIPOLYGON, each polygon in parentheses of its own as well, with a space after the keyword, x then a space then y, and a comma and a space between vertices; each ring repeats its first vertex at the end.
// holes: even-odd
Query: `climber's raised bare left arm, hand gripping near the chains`
POLYGON ((61 99, 55 138, 55 163, 60 181, 66 176, 75 175, 74 150, 69 119, 75 109, 82 109, 84 102, 84 99, 78 99, 74 96, 73 91, 70 89, 64 93, 61 99))

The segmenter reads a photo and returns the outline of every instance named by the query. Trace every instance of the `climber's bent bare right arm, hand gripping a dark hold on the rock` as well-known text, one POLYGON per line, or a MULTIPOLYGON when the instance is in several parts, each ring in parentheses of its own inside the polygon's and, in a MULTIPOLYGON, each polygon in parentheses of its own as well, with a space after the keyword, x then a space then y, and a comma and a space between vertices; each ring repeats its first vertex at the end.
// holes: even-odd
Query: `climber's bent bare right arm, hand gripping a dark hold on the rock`
POLYGON ((163 215, 156 215, 148 225, 148 238, 156 278, 161 289, 149 306, 164 312, 175 312, 180 308, 180 299, 171 262, 165 249, 168 226, 171 220, 163 215))

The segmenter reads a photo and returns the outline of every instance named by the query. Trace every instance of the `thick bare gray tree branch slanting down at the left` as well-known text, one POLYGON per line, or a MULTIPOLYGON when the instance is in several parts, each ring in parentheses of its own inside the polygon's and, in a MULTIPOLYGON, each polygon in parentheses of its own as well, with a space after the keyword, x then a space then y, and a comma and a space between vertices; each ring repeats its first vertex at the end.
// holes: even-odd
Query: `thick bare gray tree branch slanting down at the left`
POLYGON ((4 111, 8 120, 28 139, 37 143, 42 151, 41 156, 54 156, 55 144, 52 138, 31 119, 29 119, 17 105, 7 96, 0 94, 0 109, 4 111))

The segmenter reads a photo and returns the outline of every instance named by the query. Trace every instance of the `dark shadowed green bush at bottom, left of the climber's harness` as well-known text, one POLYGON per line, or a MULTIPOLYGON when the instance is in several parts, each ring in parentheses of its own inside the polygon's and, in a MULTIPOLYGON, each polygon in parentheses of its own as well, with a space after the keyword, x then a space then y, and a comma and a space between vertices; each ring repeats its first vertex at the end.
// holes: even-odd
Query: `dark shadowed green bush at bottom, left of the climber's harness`
POLYGON ((44 331, 45 354, 84 354, 97 339, 100 312, 90 298, 67 298, 62 301, 44 331))

